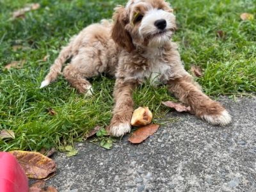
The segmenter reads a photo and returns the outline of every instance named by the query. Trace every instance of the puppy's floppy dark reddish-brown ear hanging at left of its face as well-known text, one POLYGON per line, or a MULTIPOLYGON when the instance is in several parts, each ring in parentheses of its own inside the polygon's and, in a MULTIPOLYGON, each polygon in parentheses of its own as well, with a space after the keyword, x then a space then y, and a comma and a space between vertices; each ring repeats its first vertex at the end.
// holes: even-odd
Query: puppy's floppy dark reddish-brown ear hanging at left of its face
POLYGON ((113 15, 114 25, 112 28, 112 38, 121 47, 124 47, 128 52, 134 49, 131 35, 125 29, 125 25, 129 22, 129 15, 123 6, 115 8, 113 15))

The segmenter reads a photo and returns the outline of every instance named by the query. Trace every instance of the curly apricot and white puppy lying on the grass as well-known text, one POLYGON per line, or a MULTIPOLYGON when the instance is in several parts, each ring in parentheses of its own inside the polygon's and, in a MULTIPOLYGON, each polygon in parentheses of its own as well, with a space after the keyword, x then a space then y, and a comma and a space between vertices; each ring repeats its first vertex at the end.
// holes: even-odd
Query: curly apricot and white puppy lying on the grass
POLYGON ((231 118, 219 102, 211 100, 193 81, 180 61, 177 44, 171 41, 175 16, 164 0, 131 0, 117 6, 113 22, 102 20, 74 36, 52 65, 41 88, 54 81, 72 56, 63 75, 80 93, 92 94, 87 80, 106 72, 116 77, 115 107, 110 124, 113 136, 131 129, 132 90, 145 79, 166 83, 196 116, 211 124, 227 125, 231 118))

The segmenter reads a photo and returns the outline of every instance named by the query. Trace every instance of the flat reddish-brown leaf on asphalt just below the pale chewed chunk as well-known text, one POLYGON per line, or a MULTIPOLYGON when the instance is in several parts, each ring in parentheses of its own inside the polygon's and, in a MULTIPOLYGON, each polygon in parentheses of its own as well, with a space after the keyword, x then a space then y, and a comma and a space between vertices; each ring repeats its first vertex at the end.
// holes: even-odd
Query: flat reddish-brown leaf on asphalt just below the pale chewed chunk
POLYGON ((131 143, 141 143, 142 141, 146 140, 149 136, 154 134, 158 128, 158 124, 150 124, 144 127, 140 127, 132 133, 128 141, 130 141, 131 143))

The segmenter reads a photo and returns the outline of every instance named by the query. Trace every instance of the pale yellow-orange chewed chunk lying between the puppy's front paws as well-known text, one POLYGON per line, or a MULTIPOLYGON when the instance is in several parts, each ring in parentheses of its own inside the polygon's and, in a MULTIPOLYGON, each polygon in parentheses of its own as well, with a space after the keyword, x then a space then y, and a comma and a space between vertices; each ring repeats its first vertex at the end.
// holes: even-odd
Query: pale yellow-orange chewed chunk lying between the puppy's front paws
POLYGON ((131 125, 136 127, 148 125, 151 123, 152 117, 152 112, 148 109, 148 107, 140 107, 134 110, 132 114, 131 125))

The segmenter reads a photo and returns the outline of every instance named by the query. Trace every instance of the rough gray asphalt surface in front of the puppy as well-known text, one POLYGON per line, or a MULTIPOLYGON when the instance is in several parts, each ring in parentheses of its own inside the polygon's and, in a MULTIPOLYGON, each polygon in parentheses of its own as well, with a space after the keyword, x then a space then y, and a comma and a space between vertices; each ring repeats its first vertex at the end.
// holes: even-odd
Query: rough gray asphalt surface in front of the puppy
POLYGON ((125 136, 112 150, 77 143, 79 155, 58 153, 59 191, 256 191, 256 99, 221 98, 232 124, 207 124, 188 113, 140 145, 125 136))

